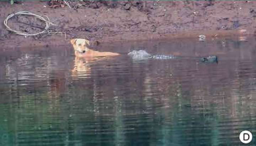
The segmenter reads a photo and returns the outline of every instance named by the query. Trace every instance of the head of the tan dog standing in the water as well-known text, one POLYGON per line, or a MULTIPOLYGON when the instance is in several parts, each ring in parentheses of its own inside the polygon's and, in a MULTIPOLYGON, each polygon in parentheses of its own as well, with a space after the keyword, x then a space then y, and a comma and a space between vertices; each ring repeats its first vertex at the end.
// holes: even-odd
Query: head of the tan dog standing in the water
POLYGON ((88 51, 87 45, 90 45, 90 41, 86 39, 72 39, 70 43, 73 45, 74 50, 79 53, 85 53, 88 51))

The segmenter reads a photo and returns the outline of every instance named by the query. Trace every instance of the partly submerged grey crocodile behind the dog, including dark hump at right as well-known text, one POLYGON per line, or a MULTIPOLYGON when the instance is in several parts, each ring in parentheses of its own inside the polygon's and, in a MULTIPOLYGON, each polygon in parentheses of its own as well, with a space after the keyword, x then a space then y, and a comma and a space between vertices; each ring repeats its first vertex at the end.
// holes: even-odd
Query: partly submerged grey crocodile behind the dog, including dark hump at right
MULTIPOLYGON (((146 59, 175 59, 178 57, 175 56, 166 56, 166 55, 152 55, 145 50, 139 50, 139 51, 132 51, 128 53, 128 56, 130 56, 134 60, 146 60, 146 59)), ((218 57, 217 56, 208 56, 208 57, 202 57, 199 59, 202 63, 218 63, 218 57)))

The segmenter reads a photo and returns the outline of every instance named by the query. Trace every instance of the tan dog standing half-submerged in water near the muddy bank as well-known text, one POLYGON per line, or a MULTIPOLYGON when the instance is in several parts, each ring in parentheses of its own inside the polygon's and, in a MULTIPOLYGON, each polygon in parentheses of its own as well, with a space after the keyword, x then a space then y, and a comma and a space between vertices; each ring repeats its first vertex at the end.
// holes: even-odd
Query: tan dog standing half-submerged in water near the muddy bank
POLYGON ((110 57, 120 55, 119 53, 99 52, 89 49, 87 45, 90 45, 90 41, 86 39, 72 39, 70 42, 74 47, 75 56, 78 57, 110 57))

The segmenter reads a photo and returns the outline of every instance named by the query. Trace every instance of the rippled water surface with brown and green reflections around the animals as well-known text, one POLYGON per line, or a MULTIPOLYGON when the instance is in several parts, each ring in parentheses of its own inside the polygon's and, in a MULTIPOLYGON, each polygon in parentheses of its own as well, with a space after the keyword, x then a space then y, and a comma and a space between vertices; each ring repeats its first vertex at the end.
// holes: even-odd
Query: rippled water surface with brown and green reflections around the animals
POLYGON ((0 145, 228 146, 256 134, 254 39, 129 45, 102 60, 71 46, 1 52, 0 145), (184 58, 133 61, 131 47, 184 58), (219 63, 199 62, 208 55, 219 63))

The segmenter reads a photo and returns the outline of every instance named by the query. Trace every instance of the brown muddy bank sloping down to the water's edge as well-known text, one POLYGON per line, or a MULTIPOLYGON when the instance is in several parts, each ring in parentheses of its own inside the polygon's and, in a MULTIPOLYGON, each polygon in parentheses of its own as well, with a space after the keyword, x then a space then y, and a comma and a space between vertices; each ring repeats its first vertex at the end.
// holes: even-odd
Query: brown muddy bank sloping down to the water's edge
MULTIPOLYGON (((0 43, 3 48, 67 45, 71 38, 99 42, 141 41, 223 35, 253 35, 256 1, 0 1, 0 43), (21 36, 6 29, 4 19, 18 11, 48 16, 57 34, 21 36), (64 35, 66 34, 66 36, 64 35)), ((14 30, 37 33, 45 23, 31 16, 9 19, 14 30)))

